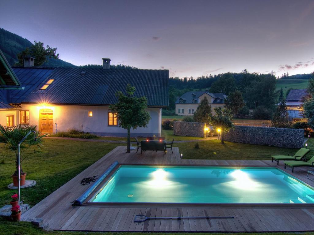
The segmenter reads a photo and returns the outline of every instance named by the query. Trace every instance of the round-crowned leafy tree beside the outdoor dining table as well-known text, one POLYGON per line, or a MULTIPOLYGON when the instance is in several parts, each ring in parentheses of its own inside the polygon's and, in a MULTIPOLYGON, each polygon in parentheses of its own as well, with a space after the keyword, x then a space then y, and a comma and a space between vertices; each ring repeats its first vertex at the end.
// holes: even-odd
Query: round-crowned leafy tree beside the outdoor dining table
POLYGON ((136 89, 130 84, 127 84, 126 91, 126 95, 121 91, 116 92, 118 102, 111 104, 109 109, 116 114, 119 127, 127 129, 127 153, 130 153, 131 128, 135 130, 138 127, 147 127, 150 116, 146 110, 147 98, 145 96, 135 97, 136 89))

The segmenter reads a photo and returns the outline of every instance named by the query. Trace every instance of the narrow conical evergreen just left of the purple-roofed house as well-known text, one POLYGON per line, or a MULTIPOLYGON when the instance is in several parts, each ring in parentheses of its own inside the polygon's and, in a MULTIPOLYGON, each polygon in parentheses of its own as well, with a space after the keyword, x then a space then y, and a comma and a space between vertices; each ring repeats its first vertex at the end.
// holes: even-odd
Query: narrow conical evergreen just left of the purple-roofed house
POLYGON ((292 122, 289 118, 289 113, 284 99, 284 90, 281 88, 279 92, 279 105, 277 106, 273 118, 272 126, 279 128, 290 128, 292 122))

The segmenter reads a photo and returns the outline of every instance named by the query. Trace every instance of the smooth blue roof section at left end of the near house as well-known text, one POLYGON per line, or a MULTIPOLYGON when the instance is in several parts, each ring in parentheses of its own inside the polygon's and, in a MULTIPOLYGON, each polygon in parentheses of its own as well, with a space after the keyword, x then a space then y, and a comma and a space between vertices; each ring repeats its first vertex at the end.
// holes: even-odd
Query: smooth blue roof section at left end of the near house
POLYGON ((9 103, 21 103, 39 84, 46 81, 53 69, 47 68, 23 68, 13 67, 16 76, 19 78, 24 90, 7 90, 9 103))

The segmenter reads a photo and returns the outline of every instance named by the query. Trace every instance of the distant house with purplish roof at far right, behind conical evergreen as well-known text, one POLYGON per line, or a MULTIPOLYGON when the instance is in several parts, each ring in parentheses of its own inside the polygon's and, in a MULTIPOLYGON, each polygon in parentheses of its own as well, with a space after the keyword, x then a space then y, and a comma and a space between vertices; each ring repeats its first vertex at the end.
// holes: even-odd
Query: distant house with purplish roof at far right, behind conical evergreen
MULTIPOLYGON (((302 118, 301 107, 303 106, 303 98, 307 96, 306 89, 290 90, 286 98, 286 106, 290 118, 302 118)), ((278 104, 277 104, 278 105, 278 104)))

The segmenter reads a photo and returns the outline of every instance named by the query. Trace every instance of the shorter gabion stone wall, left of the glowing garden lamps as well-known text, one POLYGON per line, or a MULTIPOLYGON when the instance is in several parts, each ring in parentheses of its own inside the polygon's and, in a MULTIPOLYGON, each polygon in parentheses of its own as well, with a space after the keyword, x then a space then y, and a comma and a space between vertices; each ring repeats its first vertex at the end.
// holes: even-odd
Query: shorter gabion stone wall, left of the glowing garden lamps
POLYGON ((205 137, 206 123, 173 122, 173 134, 180 136, 205 137))

